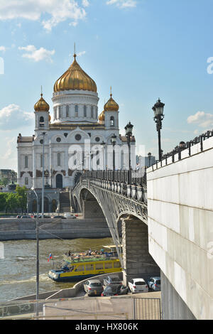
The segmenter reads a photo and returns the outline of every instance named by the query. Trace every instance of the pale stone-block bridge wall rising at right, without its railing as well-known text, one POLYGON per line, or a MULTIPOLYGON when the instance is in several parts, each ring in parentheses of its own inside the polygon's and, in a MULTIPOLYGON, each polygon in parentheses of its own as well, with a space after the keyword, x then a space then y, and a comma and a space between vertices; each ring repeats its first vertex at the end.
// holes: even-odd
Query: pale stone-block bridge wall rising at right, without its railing
POLYGON ((148 168, 149 252, 166 279, 164 318, 212 319, 213 138, 191 154, 148 168))

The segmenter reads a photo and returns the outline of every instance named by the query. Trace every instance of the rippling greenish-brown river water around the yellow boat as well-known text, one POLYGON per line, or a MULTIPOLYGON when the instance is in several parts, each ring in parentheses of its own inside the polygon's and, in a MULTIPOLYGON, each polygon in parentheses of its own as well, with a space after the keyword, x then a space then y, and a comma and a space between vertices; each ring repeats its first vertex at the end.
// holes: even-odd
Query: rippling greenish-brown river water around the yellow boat
MULTIPOLYGON (((0 259, 0 302, 34 294, 36 289, 36 241, 18 240, 2 244, 4 259, 0 259)), ((75 285, 76 282, 59 283, 48 277, 48 271, 54 264, 61 261, 63 253, 69 250, 81 252, 89 248, 99 250, 102 245, 107 244, 113 244, 113 239, 40 240, 39 292, 67 289, 75 285), (53 259, 48 262, 50 253, 53 259)))

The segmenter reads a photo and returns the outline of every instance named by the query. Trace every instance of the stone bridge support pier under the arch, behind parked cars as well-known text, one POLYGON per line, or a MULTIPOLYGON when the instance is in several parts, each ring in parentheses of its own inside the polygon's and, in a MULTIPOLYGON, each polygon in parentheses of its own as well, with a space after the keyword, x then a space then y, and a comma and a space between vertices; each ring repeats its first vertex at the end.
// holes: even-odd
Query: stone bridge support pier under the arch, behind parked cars
POLYGON ((160 276, 160 269, 148 252, 148 226, 136 217, 122 220, 124 284, 129 279, 160 276))

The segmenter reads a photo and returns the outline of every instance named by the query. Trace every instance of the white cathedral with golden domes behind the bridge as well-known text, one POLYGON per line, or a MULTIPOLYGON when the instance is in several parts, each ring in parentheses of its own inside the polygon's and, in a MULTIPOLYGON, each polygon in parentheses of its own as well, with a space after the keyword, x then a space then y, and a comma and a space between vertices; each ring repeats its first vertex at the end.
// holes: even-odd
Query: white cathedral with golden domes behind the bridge
MULTIPOLYGON (((35 133, 19 134, 17 140, 18 184, 40 190, 44 163, 50 211, 51 202, 58 201, 55 190, 72 188, 79 171, 113 168, 112 136, 116 136, 116 148, 127 146, 126 136, 119 134, 119 105, 111 95, 104 111, 98 113, 97 85, 77 63, 76 55, 70 68, 55 82, 52 100, 53 119, 41 94, 34 106, 35 133)), ((135 147, 134 137, 131 146, 135 147)), ((124 150, 116 154, 116 169, 127 169, 125 156, 128 154, 124 150)))

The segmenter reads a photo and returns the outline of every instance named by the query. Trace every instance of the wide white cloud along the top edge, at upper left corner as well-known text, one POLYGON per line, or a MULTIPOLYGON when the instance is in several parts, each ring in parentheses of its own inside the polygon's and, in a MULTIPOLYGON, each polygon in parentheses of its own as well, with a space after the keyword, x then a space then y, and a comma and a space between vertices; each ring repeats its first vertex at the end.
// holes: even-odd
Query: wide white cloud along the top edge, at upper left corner
POLYGON ((77 0, 1 0, 0 21, 16 18, 40 21, 41 16, 48 14, 50 18, 43 19, 42 25, 47 31, 51 31, 67 19, 76 22, 82 20, 87 15, 84 7, 89 2, 84 0, 83 3, 80 6, 77 0))

